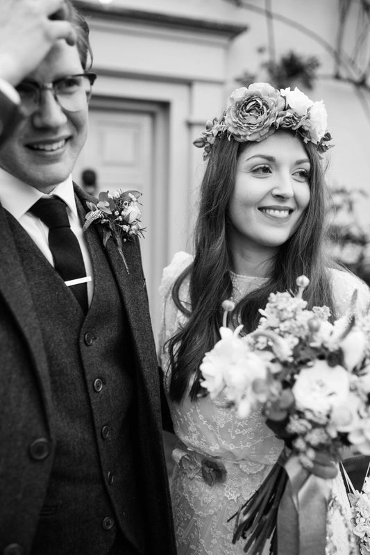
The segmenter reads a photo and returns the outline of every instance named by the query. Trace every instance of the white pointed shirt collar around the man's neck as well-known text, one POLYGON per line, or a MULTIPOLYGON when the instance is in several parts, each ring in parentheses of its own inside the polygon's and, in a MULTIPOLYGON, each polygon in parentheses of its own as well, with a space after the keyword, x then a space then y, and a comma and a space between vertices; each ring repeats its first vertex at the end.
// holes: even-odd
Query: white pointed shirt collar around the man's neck
POLYGON ((72 210, 72 213, 77 216, 72 175, 69 175, 62 183, 58 183, 51 194, 44 194, 42 191, 9 174, 5 169, 0 168, 0 202, 3 208, 6 208, 16 219, 19 220, 26 214, 38 199, 42 197, 50 198, 53 195, 65 201, 65 204, 72 210))

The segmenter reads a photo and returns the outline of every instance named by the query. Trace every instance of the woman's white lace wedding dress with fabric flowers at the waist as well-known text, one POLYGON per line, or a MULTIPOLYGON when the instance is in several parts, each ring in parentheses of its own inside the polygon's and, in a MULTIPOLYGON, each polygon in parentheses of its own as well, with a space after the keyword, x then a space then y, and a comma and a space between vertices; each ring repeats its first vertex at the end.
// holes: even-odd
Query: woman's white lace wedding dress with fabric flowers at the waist
MULTIPOLYGON (((163 345, 174 335, 186 317, 176 308, 171 288, 177 276, 192 261, 192 257, 179 252, 163 272, 160 295, 162 298, 162 329, 160 332, 160 358, 168 388, 171 369, 163 345)), ((257 288, 263 278, 231 274, 233 300, 239 300, 249 290, 257 288)), ((369 302, 369 290, 355 276, 333 271, 333 292, 337 315, 348 308, 353 290, 357 288, 358 310, 369 302)), ((180 289, 180 299, 188 300, 189 281, 180 289)), ((241 540, 232 544, 235 520, 228 522, 242 504, 251 497, 276 462, 283 442, 264 424, 255 412, 240 420, 235 412, 217 406, 209 397, 196 402, 185 397, 180 404, 170 399, 169 408, 178 445, 172 454, 175 462, 171 476, 171 498, 174 510, 178 555, 242 555, 241 540), (209 486, 203 479, 203 458, 219 458, 227 472, 224 483, 209 486)), ((328 513, 326 555, 350 555, 348 522, 350 509, 344 483, 338 472, 333 481, 335 504, 328 513)), ((268 549, 267 549, 268 553, 268 549)), ((319 555, 319 554, 318 554, 319 555)))

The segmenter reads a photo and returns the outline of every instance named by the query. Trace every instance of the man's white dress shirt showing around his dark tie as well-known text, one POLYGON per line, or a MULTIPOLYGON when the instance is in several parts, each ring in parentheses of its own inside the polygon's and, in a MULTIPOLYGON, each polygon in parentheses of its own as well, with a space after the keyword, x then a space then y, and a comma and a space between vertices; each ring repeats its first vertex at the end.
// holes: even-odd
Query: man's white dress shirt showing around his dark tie
POLYGON ((20 181, 15 176, 12 176, 4 169, 0 168, 0 202, 3 208, 6 208, 6 210, 18 220, 19 224, 21 224, 28 235, 30 235, 31 239, 33 239, 52 266, 54 263, 51 250, 49 249, 49 228, 37 216, 29 212, 29 209, 39 199, 47 199, 53 196, 59 197, 67 204, 69 224, 81 247, 86 276, 91 278, 91 281, 87 281, 87 298, 90 304, 94 289, 92 262, 77 213, 72 176, 69 176, 65 181, 56 185, 56 188, 51 194, 44 194, 42 191, 31 187, 31 185, 27 185, 27 183, 20 181))

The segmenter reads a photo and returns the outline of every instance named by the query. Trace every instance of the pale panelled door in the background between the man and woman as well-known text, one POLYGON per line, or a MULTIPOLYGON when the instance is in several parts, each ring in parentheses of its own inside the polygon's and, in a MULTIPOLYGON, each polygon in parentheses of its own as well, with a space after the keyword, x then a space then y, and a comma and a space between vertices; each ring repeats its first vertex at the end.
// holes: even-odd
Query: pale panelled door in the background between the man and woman
MULTIPOLYGON (((160 306, 158 287, 165 260, 163 240, 166 222, 155 214, 155 176, 158 176, 158 160, 155 144, 155 127, 158 110, 101 109, 90 106, 89 134, 78 163, 74 169, 74 181, 82 185, 82 172, 93 169, 97 176, 96 196, 100 191, 135 189, 142 192, 142 223, 145 238, 140 239, 142 261, 149 293, 149 304, 155 338, 158 334, 160 306)), ((162 162, 163 163, 163 162, 162 162)), ((164 188, 165 183, 158 184, 164 188)), ((156 194, 155 194, 156 192, 156 194)), ((130 261, 128 260, 128 264, 130 261)))

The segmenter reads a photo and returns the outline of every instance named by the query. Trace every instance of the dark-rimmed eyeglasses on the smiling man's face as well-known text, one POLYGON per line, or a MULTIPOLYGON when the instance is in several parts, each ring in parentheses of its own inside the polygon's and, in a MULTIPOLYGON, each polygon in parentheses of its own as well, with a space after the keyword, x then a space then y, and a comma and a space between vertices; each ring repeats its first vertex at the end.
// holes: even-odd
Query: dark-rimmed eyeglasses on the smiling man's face
POLYGON ((17 86, 17 92, 21 98, 22 112, 28 116, 37 110, 40 106, 43 90, 50 90, 63 110, 67 112, 83 110, 90 100, 95 79, 96 74, 86 72, 67 75, 56 79, 52 83, 43 83, 42 85, 35 81, 22 81, 17 86))

